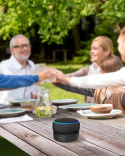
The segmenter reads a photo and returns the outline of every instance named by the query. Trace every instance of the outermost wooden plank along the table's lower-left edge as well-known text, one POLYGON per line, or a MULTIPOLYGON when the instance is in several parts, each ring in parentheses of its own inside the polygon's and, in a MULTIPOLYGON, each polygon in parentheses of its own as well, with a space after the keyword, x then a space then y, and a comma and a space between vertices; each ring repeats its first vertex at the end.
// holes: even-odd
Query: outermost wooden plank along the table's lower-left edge
POLYGON ((14 145, 16 145, 17 147, 19 147, 20 149, 22 149, 23 151, 25 151, 26 153, 28 153, 29 155, 45 156, 45 154, 43 154, 39 150, 37 150, 34 147, 30 146, 29 144, 27 144, 23 140, 19 139, 18 137, 16 137, 15 135, 9 133, 8 131, 6 131, 5 129, 3 129, 1 127, 0 127, 0 135, 2 137, 4 137, 6 140, 8 140, 11 143, 13 143, 14 145))

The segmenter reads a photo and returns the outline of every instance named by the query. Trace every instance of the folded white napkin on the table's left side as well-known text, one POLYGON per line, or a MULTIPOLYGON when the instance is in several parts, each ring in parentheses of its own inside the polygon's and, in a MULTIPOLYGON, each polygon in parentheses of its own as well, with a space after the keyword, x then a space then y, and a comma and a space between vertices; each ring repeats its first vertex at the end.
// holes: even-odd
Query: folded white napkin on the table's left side
POLYGON ((29 120, 33 120, 33 118, 31 118, 26 114, 19 117, 0 119, 0 123, 21 122, 21 121, 29 121, 29 120))

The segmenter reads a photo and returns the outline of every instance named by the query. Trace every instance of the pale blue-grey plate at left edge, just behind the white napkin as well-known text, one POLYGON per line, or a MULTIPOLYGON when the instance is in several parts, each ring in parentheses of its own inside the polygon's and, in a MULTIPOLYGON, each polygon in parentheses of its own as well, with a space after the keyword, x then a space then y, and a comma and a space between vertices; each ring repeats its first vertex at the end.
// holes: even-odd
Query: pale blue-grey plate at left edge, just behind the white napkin
POLYGON ((23 112, 25 112, 25 109, 21 109, 21 108, 0 109, 0 117, 17 116, 23 112))

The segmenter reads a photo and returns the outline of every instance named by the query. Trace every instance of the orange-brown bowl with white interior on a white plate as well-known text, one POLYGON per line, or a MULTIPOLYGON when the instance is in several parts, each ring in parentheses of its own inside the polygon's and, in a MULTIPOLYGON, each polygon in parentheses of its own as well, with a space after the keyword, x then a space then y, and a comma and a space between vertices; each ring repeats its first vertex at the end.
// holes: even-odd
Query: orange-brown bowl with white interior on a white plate
POLYGON ((112 104, 98 104, 90 107, 90 110, 94 113, 110 113, 112 110, 112 104))

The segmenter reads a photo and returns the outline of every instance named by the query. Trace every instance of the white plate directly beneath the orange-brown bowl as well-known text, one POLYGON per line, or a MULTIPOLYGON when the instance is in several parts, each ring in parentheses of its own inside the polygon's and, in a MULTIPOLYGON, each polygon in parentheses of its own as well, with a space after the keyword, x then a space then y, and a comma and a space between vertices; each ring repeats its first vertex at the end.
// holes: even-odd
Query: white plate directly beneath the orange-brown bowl
POLYGON ((113 118, 114 116, 121 114, 122 111, 118 109, 113 109, 110 113, 97 114, 92 112, 91 110, 79 110, 77 111, 77 113, 88 118, 102 119, 102 118, 113 118))

